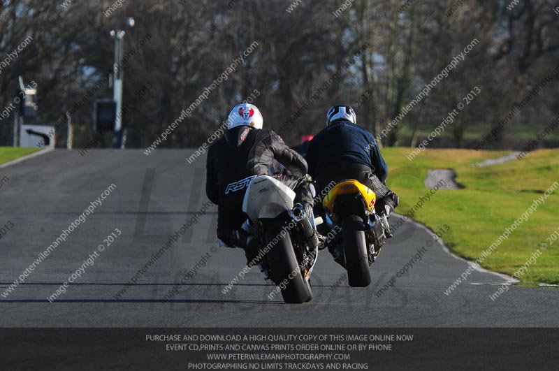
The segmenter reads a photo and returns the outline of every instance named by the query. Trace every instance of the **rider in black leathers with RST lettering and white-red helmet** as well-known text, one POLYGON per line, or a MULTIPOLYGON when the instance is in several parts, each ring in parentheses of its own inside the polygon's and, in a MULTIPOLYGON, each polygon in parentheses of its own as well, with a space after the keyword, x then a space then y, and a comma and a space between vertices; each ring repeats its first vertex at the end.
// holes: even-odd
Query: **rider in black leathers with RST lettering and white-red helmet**
MULTIPOLYGON (((286 168, 287 174, 273 176, 295 191, 296 206, 311 217, 312 193, 306 180, 307 162, 287 147, 276 133, 262 129, 262 114, 252 104, 235 106, 229 113, 227 124, 224 136, 212 143, 208 150, 206 194, 218 205, 217 238, 228 247, 245 249, 250 265, 258 253, 258 244, 241 228, 247 219, 242 212, 242 201, 249 182, 256 175, 270 175, 270 168, 276 160, 286 168)), ((304 222, 310 224, 306 218, 304 222)), ((314 238, 314 228, 311 230, 313 235, 305 237, 314 238)))

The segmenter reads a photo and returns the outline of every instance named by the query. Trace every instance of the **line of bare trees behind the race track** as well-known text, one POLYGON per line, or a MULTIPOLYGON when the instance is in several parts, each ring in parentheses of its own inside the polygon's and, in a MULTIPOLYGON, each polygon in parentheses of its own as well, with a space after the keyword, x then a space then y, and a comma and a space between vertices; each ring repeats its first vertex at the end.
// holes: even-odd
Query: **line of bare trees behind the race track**
MULTIPOLYGON (((4 0, 0 110, 17 96, 21 75, 38 85, 36 123, 55 126, 72 111, 74 146, 92 143, 93 101, 112 97, 109 31, 134 17, 136 25, 124 37, 127 147, 152 144, 210 90, 159 146, 199 147, 255 89, 265 126, 280 131, 289 145, 317 133, 328 107, 343 103, 354 106, 358 124, 382 145, 416 147, 477 87, 479 95, 430 144, 473 148, 549 80, 484 145, 523 147, 518 132, 545 127, 559 110, 559 15, 551 0, 508 5, 137 0, 115 7, 112 0, 4 0), (247 54, 250 45, 254 50, 247 54)), ((10 112, 0 116, 0 145, 11 145, 12 123, 10 112)), ((552 134, 545 145, 559 145, 556 138, 552 134)), ((109 143, 107 137, 97 145, 109 143)), ((66 145, 64 125, 57 145, 66 145)))

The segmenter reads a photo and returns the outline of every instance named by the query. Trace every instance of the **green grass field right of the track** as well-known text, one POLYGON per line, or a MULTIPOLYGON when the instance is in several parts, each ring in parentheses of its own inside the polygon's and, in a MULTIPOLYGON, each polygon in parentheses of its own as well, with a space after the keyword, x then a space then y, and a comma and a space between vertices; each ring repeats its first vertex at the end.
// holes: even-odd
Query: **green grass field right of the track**
MULTIPOLYGON (((544 196, 559 182, 559 150, 538 150, 524 159, 478 168, 472 163, 493 159, 509 152, 474 150, 426 150, 412 161, 409 148, 386 148, 382 153, 389 164, 387 185, 400 196, 396 210, 406 214, 425 196, 423 180, 429 168, 451 168, 462 189, 440 189, 417 211, 413 219, 438 231, 444 224, 451 229, 443 240, 456 254, 475 261, 504 233, 536 198, 544 196)), ((559 228, 559 188, 545 203, 516 228, 507 240, 489 255, 484 268, 512 275, 542 243, 549 247, 528 272, 523 283, 559 284, 559 241, 549 238, 559 228)), ((418 242, 423 244, 424 242, 418 242)))

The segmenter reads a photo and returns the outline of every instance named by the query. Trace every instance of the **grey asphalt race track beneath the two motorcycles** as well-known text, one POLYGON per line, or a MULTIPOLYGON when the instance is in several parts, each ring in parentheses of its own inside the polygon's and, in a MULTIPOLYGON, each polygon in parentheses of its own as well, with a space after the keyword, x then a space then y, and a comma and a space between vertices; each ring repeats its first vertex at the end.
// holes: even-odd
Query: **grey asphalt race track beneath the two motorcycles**
POLYGON ((493 301, 489 296, 498 289, 493 284, 504 282, 504 277, 473 272, 445 295, 467 263, 444 252, 439 242, 433 243, 432 232, 409 221, 373 264, 368 288, 349 288, 342 268, 328 252, 321 252, 312 274, 314 299, 305 305, 286 305, 280 296, 270 300, 268 294, 275 288, 256 269, 222 293, 242 270, 245 257, 240 250, 217 247, 215 206, 153 261, 152 254, 203 210, 204 203, 208 205, 205 157, 189 165, 185 158, 192 153, 157 150, 146 156, 141 150, 93 150, 82 157, 78 151, 55 150, 0 169, 9 178, 0 189, 0 224, 13 224, 0 240, 0 293, 110 184, 116 185, 24 284, 6 298, 0 296, 0 326, 559 326, 555 289, 512 286, 493 301), (47 298, 115 228, 122 234, 50 303, 47 298), (421 261, 391 289, 375 295, 422 247, 426 249, 421 261), (115 299, 150 259, 137 284, 115 299), (177 295, 162 303, 189 271, 177 295))

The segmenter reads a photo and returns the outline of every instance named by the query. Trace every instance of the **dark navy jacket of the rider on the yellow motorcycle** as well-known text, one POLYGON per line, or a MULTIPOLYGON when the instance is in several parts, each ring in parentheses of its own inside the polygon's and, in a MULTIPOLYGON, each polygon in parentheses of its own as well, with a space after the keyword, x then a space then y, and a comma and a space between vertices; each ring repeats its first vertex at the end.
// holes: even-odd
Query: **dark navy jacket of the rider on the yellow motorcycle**
POLYGON ((330 173, 330 167, 340 161, 370 167, 372 173, 383 183, 388 175, 388 166, 382 158, 375 137, 349 121, 333 122, 314 136, 305 158, 312 177, 330 173))

